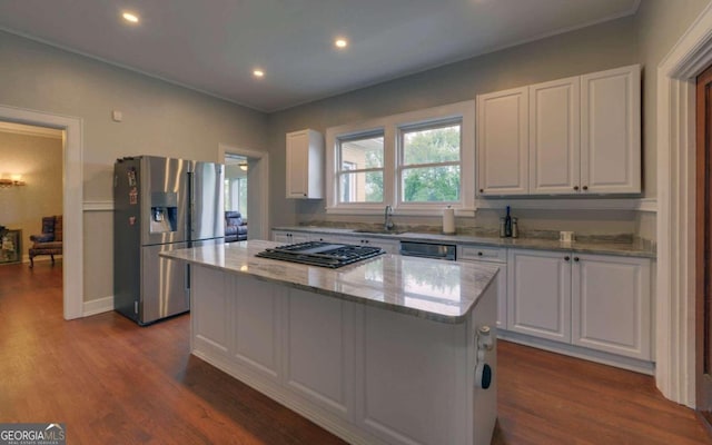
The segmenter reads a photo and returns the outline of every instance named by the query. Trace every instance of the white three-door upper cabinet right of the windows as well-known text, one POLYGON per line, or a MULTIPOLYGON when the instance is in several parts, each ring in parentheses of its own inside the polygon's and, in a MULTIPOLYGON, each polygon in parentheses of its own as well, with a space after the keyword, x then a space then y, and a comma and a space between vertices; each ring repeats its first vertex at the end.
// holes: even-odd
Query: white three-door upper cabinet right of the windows
POLYGON ((479 195, 640 194, 640 72, 477 96, 479 195))

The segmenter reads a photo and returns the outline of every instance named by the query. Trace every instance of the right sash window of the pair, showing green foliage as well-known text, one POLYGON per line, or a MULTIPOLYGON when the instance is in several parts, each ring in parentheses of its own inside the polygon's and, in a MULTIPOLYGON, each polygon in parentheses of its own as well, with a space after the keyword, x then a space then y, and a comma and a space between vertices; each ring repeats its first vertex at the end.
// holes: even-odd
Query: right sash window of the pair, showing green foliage
POLYGON ((461 121, 400 130, 400 201, 458 202, 461 121))

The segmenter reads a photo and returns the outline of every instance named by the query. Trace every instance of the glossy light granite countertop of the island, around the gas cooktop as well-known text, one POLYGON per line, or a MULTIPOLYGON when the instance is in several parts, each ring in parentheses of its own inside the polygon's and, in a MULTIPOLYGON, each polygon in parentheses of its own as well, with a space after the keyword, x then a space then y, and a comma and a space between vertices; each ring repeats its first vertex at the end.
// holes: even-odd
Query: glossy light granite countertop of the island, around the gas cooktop
POLYGON ((276 246, 249 240, 160 255, 441 323, 464 322, 497 274, 496 266, 389 254, 338 269, 255 256, 276 246))

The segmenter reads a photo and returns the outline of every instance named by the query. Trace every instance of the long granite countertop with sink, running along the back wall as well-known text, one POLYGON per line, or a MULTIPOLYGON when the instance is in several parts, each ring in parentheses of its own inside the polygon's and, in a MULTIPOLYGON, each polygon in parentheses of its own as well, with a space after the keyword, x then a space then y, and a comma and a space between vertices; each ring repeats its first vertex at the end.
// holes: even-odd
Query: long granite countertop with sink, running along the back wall
POLYGON ((582 240, 572 243, 563 243, 558 239, 522 237, 522 238, 500 238, 494 236, 477 235, 439 235, 433 233, 358 233, 354 229, 319 227, 319 226, 294 226, 294 227, 274 227, 273 230, 299 231, 310 234, 332 234, 336 236, 368 237, 383 238, 407 241, 435 241, 452 243, 463 246, 477 245, 491 247, 507 247, 518 249, 536 249, 536 250, 556 250, 572 251, 578 254, 597 254, 597 255, 616 255, 640 258, 655 258, 655 248, 650 243, 641 239, 617 241, 612 237, 587 236, 582 240))

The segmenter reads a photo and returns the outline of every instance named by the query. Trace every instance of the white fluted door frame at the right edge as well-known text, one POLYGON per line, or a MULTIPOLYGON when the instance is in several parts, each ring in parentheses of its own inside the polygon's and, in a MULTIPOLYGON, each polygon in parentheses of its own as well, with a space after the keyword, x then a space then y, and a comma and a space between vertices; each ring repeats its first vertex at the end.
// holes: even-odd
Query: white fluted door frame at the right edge
POLYGON ((657 67, 655 382, 695 407, 695 89, 712 63, 712 3, 657 67))

